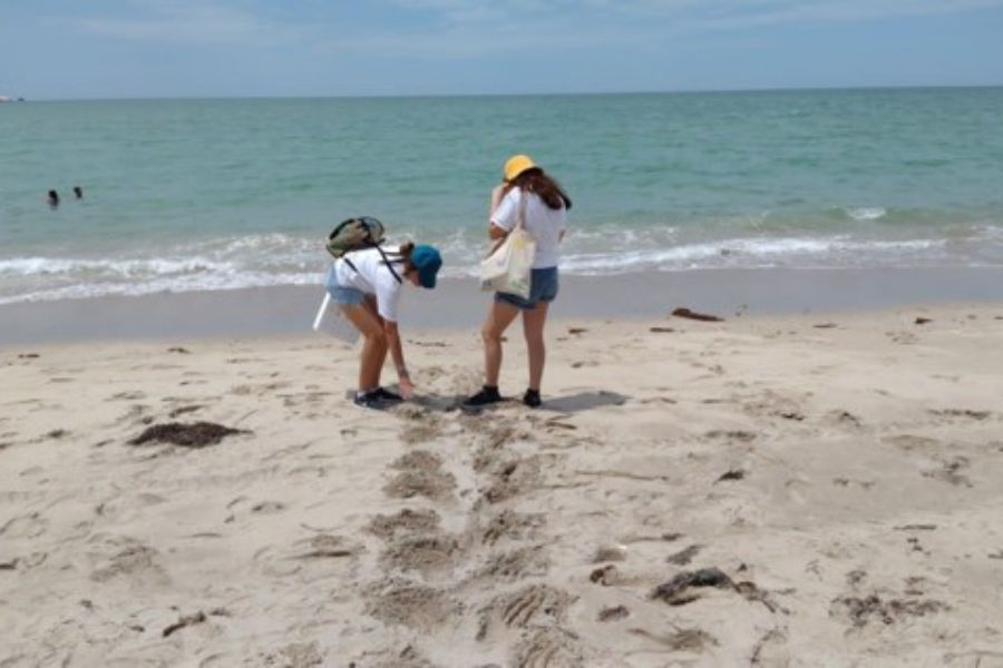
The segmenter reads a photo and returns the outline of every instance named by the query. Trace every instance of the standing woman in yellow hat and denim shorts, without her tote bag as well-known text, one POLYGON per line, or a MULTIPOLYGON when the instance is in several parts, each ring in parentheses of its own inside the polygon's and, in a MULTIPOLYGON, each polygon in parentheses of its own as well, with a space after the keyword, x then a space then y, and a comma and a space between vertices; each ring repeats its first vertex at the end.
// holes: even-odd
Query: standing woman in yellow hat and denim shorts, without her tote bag
POLYGON ((535 409, 541 404, 539 385, 546 361, 544 325, 547 322, 547 308, 557 296, 559 245, 564 238, 565 218, 572 202, 557 181, 529 156, 510 157, 505 163, 504 177, 504 181, 491 191, 488 236, 497 240, 512 232, 525 198, 523 225, 536 238, 529 298, 495 293, 491 308, 480 331, 484 338, 484 387, 468 397, 464 405, 481 406, 501 401, 498 392, 501 335, 522 313, 523 334, 529 353, 529 387, 523 395, 523 403, 535 409))

